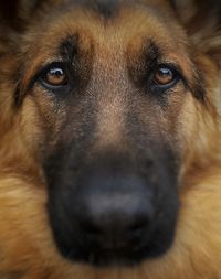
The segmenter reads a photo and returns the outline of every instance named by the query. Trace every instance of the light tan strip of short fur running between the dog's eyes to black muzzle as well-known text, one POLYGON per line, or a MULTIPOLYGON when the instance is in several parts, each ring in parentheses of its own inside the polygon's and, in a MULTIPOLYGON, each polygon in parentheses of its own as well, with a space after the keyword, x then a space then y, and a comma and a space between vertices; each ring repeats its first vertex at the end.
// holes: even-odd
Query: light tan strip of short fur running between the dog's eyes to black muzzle
POLYGON ((123 142, 129 108, 129 87, 126 61, 122 46, 118 52, 112 45, 97 50, 92 87, 96 92, 96 143, 95 149, 123 142))

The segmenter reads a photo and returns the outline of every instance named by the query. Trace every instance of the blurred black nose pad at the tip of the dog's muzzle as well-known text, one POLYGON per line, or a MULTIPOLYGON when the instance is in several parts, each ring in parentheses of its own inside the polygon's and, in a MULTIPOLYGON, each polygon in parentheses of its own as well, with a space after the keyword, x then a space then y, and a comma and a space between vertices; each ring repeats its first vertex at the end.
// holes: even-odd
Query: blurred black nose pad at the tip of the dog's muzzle
POLYGON ((151 194, 138 176, 87 176, 76 200, 75 219, 88 245, 104 250, 136 248, 150 229, 151 194))

